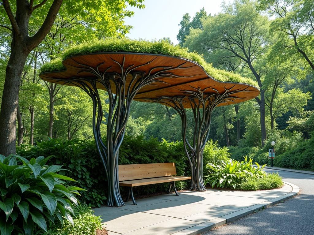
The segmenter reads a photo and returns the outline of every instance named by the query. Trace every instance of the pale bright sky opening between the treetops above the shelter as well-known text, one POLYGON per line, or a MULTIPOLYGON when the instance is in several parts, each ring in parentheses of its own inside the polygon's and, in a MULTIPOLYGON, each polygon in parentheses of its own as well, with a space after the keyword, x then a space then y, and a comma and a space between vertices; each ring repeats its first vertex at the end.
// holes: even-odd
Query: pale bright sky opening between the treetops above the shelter
POLYGON ((169 37, 174 44, 178 44, 178 24, 185 13, 189 13, 192 19, 204 7, 207 14, 213 15, 220 12, 222 2, 223 0, 145 0, 144 9, 129 8, 135 14, 125 19, 126 24, 133 26, 126 36, 146 40, 169 37))

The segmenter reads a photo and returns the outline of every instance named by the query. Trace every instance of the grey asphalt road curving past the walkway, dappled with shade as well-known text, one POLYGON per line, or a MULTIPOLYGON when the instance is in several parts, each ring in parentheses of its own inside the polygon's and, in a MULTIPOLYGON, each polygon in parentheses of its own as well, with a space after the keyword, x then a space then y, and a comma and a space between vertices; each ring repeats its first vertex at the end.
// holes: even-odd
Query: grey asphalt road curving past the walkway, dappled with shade
POLYGON ((314 175, 275 172, 299 186, 300 194, 202 235, 314 235, 314 175))

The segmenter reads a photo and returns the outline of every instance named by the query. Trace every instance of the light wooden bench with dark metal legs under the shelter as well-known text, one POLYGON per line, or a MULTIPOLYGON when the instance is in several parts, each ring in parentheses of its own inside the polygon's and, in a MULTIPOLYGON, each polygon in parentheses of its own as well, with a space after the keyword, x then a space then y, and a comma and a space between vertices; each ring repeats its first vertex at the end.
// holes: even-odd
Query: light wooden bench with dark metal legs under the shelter
POLYGON ((177 176, 174 162, 119 165, 119 185, 129 188, 126 201, 129 200, 131 194, 134 205, 137 203, 134 200, 133 187, 169 182, 167 193, 169 194, 173 186, 176 196, 179 196, 175 185, 175 181, 178 180, 191 180, 191 177, 177 176))

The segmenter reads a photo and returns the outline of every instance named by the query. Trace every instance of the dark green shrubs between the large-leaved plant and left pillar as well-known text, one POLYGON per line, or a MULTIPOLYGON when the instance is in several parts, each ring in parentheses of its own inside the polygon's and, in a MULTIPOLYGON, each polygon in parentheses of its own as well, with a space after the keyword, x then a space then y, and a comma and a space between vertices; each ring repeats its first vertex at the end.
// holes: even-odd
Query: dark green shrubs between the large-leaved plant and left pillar
POLYGON ((48 163, 67 166, 67 175, 77 182, 74 186, 83 187, 87 191, 81 193, 79 199, 89 206, 103 205, 106 200, 106 187, 103 165, 96 152, 93 140, 73 139, 62 141, 49 139, 37 143, 36 146, 24 145, 17 149, 19 154, 31 158, 42 155, 49 157, 48 163))

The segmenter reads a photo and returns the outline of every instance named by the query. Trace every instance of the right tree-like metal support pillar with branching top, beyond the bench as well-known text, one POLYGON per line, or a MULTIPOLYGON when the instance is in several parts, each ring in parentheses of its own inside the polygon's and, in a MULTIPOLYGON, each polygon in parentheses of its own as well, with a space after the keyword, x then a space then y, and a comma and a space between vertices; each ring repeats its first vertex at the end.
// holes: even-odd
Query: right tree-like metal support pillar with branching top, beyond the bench
MULTIPOLYGON (((216 89, 208 87, 206 89, 193 88, 185 91, 180 97, 162 97, 158 102, 171 105, 181 118, 181 134, 183 146, 191 168, 190 190, 206 191, 203 182, 203 153, 209 136, 211 124, 211 114, 214 107, 226 101, 234 101, 232 94, 240 90, 225 89, 219 93, 216 89), (211 92, 207 90, 211 89, 211 92), (187 138, 187 108, 191 108, 194 118, 192 139, 187 138)), ((242 89, 241 91, 246 91, 242 89)), ((237 98, 239 99, 239 98, 237 98)))

